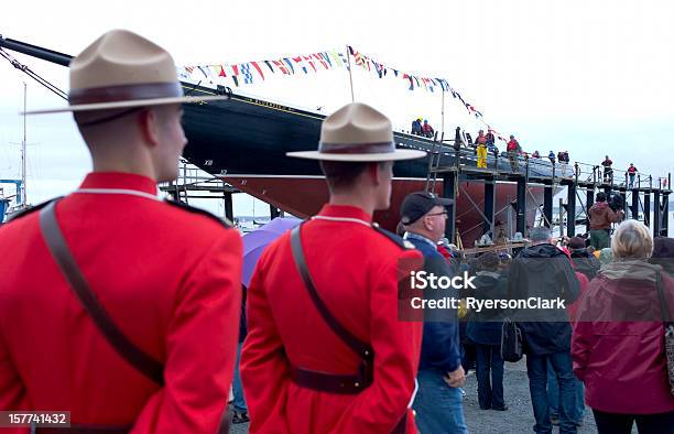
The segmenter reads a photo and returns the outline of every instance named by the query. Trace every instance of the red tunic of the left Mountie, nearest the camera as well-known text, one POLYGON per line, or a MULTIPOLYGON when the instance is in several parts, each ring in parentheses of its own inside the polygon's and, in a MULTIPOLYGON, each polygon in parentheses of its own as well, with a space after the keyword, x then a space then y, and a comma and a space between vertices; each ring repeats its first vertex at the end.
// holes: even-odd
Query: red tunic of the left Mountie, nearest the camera
POLYGON ((56 206, 64 238, 117 326, 164 365, 165 387, 96 328, 34 211, 0 229, 0 410, 70 411, 73 423, 134 423, 138 433, 215 433, 239 333, 241 237, 153 199, 144 176, 93 173, 83 188, 95 191, 56 206))

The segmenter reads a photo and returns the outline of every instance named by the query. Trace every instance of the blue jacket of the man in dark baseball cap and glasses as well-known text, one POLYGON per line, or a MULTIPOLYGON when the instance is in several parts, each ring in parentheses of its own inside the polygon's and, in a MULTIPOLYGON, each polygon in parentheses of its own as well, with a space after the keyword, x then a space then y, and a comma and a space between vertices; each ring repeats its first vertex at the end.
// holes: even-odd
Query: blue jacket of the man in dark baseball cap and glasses
MULTIPOLYGON (((433 247, 433 243, 417 235, 407 232, 407 240, 424 256, 424 271, 437 276, 454 276, 445 258, 433 247)), ((454 296, 456 290, 426 290, 424 299, 454 296)), ((459 351, 458 316, 456 310, 426 310, 424 312, 424 336, 422 341, 420 370, 439 369, 443 372, 455 371, 461 364, 459 351)))

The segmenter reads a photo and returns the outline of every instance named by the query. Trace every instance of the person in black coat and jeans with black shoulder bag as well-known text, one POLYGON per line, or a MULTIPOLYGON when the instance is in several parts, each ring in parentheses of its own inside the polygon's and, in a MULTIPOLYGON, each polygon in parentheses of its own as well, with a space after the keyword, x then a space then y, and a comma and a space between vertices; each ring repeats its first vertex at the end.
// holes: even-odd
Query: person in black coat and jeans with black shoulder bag
POLYGON ((575 433, 576 424, 569 415, 576 405, 576 383, 570 359, 572 327, 566 313, 580 294, 580 282, 566 254, 552 242, 546 227, 529 231, 531 247, 513 259, 508 279, 510 299, 541 301, 546 305, 526 306, 513 317, 522 330, 526 354, 529 390, 536 424, 534 431, 551 433, 547 401, 547 369, 552 367, 559 383, 559 430, 575 433), (564 302, 563 305, 555 303, 564 302), (547 308, 545 308, 547 307, 547 308))

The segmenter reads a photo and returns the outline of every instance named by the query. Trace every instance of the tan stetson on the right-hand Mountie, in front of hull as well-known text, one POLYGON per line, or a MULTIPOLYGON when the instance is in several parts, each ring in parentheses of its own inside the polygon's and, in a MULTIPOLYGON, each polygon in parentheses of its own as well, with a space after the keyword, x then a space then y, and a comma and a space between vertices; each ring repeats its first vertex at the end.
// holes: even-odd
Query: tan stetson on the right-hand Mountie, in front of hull
POLYGON ((287 156, 326 161, 396 161, 425 156, 424 151, 395 149, 389 118, 372 107, 351 102, 325 118, 318 151, 287 156))

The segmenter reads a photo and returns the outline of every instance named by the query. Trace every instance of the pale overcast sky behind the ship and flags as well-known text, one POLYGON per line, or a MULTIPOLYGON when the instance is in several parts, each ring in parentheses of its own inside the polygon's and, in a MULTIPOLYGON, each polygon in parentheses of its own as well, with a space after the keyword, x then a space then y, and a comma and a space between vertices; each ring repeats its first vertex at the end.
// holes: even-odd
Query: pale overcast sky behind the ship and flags
MULTIPOLYGON (((444 77, 503 134, 528 151, 568 150, 573 161, 609 153, 665 175, 674 159, 674 2, 663 1, 166 1, 6 2, 0 34, 67 54, 105 31, 138 32, 178 65, 242 63, 351 44, 378 62, 444 77)), ((67 90, 67 69, 12 53, 67 90)), ((22 82, 29 108, 63 100, 0 59, 0 177, 19 176, 22 82)), ((413 117, 441 123, 439 94, 356 72, 356 98, 399 128, 413 117)), ((350 100, 346 70, 242 87, 263 97, 330 111, 350 100)), ((447 97, 445 128, 477 129, 447 97)), ((90 169, 69 115, 29 118, 29 202, 75 188, 90 169)), ((438 128, 439 129, 439 128, 438 128)), ((250 214, 239 197, 236 214, 250 214)), ((257 213, 265 213, 258 204, 257 213)))

